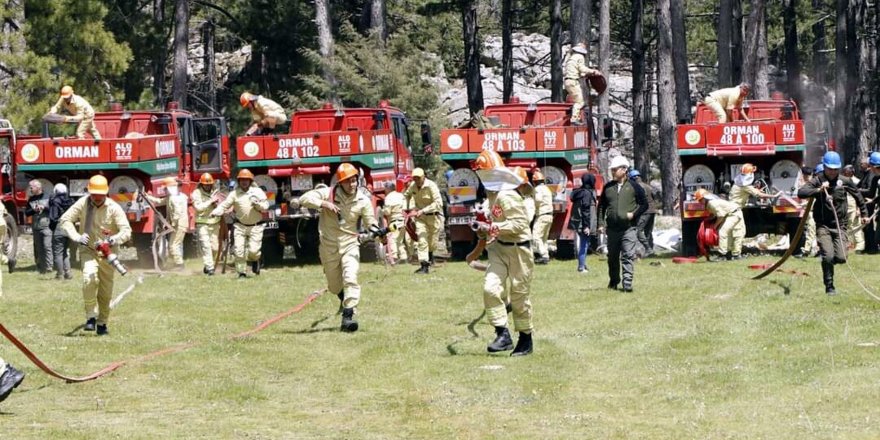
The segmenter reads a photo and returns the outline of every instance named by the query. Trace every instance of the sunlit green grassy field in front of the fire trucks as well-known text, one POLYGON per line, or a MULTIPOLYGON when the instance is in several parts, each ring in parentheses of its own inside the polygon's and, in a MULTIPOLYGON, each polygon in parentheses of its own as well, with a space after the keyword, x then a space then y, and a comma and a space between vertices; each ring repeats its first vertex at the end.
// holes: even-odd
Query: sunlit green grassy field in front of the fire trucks
MULTIPOLYGON (((228 335, 323 287, 317 265, 258 278, 145 275, 110 322, 75 332, 78 282, 4 273, 2 323, 62 373, 193 342, 184 352, 65 384, 9 343, 28 377, 0 406, 0 438, 880 438, 880 303, 837 268, 827 297, 815 259, 765 281, 745 262, 639 262, 635 293, 605 289, 605 262, 537 267, 535 353, 488 355, 481 274, 447 263, 361 270, 361 330, 338 301, 242 340, 228 335)), ((854 256, 867 285, 876 256, 854 256)), ((5 272, 5 270, 4 270, 5 272)), ((79 273, 77 272, 77 279, 79 273)), ((117 277, 116 291, 135 277, 117 277)))

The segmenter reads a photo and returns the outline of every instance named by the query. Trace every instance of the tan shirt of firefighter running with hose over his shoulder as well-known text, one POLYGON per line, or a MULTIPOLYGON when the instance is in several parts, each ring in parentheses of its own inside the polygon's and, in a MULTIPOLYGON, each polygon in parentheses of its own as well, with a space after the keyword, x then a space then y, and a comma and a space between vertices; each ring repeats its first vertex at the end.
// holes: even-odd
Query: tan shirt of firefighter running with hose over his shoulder
POLYGON ((358 246, 359 226, 366 230, 376 224, 373 203, 361 191, 348 194, 338 186, 313 189, 303 194, 299 201, 306 208, 320 210, 318 231, 321 234, 321 245, 331 248, 335 246, 340 254, 358 246), (335 191, 333 200, 330 198, 330 191, 335 191), (322 208, 321 203, 324 201, 331 201, 339 207, 339 213, 322 208))

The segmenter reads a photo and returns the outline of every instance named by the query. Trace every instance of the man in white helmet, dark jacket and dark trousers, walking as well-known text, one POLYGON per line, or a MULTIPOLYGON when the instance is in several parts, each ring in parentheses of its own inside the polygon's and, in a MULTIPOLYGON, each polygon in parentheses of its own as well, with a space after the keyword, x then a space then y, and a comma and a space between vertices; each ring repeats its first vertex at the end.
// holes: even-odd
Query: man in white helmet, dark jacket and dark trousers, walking
POLYGON ((627 178, 629 161, 623 156, 611 160, 608 167, 613 180, 602 189, 599 199, 599 230, 607 231, 609 289, 617 289, 621 282, 623 263, 623 291, 632 292, 633 260, 638 243, 639 217, 648 210, 645 190, 627 178))

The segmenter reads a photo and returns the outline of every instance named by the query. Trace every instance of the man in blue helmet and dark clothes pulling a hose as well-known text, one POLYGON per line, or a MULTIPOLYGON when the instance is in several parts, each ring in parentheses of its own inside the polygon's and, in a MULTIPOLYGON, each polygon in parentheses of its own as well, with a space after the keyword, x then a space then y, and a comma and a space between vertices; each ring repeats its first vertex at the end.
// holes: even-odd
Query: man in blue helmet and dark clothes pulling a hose
POLYGON ((829 151, 822 157, 824 170, 798 189, 798 197, 815 197, 813 219, 816 220, 816 240, 822 257, 822 281, 825 293, 836 295, 834 265, 846 263, 847 194, 856 199, 862 223, 868 222, 865 201, 852 180, 840 176, 840 155, 829 151))

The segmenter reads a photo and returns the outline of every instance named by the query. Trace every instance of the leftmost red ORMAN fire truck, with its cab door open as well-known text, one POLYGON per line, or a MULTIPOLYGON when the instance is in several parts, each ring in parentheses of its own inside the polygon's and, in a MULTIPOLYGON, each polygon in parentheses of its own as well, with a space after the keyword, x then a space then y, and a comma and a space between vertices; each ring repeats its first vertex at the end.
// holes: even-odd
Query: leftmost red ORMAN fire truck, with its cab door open
MULTIPOLYGON (((160 225, 145 203, 134 200, 135 190, 162 196, 163 179, 176 177, 181 191, 188 194, 202 174, 229 178, 229 139, 223 118, 196 118, 175 102, 165 111, 125 111, 114 104, 111 111, 95 114, 95 126, 102 135, 99 141, 53 133, 65 128, 52 124, 44 124, 42 135, 15 139, 11 162, 4 163, 4 172, 8 171, 4 178, 12 186, 4 187, 4 194, 13 202, 10 212, 18 224, 29 228, 24 207, 32 179, 42 182, 50 194, 56 183, 64 183, 76 198, 87 193, 89 177, 103 174, 110 183, 110 198, 128 216, 133 244, 139 253, 149 254, 160 225)), ((160 258, 167 253, 165 240, 160 242, 160 258)))

